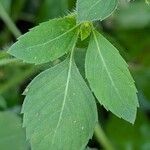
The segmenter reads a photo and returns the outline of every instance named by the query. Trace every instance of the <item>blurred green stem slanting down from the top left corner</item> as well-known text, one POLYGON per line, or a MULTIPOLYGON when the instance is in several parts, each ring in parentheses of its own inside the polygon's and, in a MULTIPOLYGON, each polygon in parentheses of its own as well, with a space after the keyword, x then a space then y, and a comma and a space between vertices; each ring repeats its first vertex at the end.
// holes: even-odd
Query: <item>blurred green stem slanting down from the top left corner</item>
POLYGON ((0 2, 0 17, 5 22, 5 24, 8 26, 9 30, 13 33, 13 35, 18 38, 21 35, 21 32, 16 27, 16 25, 13 23, 7 12, 5 11, 4 7, 2 6, 0 2))

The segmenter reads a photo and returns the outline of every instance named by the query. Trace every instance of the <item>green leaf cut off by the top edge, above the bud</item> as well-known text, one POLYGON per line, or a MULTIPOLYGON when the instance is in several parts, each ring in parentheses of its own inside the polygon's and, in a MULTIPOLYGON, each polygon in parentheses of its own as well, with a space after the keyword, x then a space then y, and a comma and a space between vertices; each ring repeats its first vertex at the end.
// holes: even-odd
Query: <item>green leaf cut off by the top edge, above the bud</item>
POLYGON ((104 20, 112 14, 117 7, 117 0, 78 0, 78 22, 104 20))

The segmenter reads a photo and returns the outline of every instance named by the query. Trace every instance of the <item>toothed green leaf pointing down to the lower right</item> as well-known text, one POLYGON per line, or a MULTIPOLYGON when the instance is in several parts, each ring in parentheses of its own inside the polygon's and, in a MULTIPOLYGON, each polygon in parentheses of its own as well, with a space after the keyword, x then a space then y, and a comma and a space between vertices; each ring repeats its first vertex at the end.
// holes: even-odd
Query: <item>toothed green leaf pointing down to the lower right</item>
POLYGON ((86 77, 107 110, 134 123, 139 106, 134 80, 117 49, 97 31, 86 54, 86 77))

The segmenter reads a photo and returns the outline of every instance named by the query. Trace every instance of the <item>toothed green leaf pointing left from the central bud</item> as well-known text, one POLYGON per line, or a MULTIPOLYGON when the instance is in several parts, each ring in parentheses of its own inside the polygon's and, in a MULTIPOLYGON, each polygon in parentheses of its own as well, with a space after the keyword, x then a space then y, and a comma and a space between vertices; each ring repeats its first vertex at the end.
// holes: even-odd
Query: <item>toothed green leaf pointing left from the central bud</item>
POLYGON ((28 63, 42 64, 69 52, 77 38, 73 16, 40 24, 19 38, 8 51, 28 63))

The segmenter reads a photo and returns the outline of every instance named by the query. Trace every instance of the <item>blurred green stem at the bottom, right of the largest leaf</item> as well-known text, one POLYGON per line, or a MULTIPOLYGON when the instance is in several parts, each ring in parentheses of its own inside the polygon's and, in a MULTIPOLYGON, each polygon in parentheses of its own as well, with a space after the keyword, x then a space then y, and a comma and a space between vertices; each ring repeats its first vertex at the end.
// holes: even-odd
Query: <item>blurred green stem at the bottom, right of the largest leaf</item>
POLYGON ((105 150, 114 150, 111 142, 106 137, 102 127, 99 124, 96 125, 94 134, 97 141, 103 146, 105 150))

